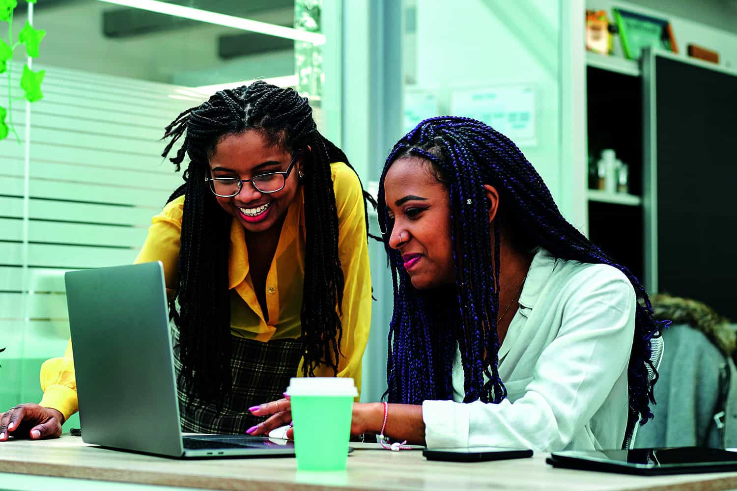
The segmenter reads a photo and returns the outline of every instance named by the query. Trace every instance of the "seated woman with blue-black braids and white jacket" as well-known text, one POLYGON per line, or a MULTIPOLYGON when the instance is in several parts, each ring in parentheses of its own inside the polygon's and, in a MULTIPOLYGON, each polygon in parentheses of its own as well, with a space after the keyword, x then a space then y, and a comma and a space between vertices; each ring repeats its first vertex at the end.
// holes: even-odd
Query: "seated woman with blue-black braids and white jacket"
POLYGON ((652 417, 650 339, 664 326, 509 138, 422 121, 386 160, 379 222, 394 278, 388 406, 355 404, 354 434, 621 448, 652 417))

